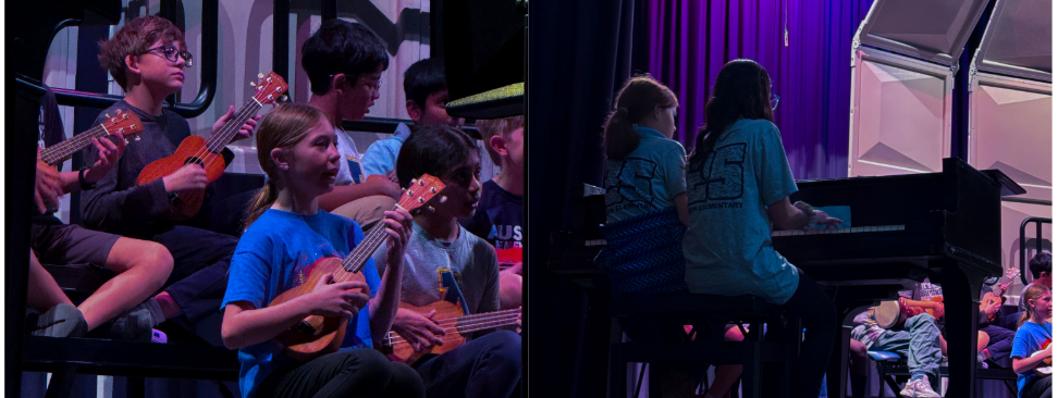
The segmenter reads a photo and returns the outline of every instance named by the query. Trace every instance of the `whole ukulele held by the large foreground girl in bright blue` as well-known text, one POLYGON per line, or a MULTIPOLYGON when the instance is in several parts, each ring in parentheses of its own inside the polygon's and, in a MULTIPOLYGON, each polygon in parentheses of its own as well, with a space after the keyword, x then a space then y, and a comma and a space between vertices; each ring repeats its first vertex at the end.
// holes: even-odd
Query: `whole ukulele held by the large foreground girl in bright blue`
MULTIPOLYGON (((432 175, 423 174, 418 179, 411 181, 411 185, 401 196, 401 201, 394 209, 404 208, 408 212, 415 211, 425 207, 442 189, 444 183, 432 175)), ((440 200, 444 202, 445 198, 442 196, 440 200)), ((365 235, 364 240, 349 251, 349 256, 344 259, 325 257, 317 260, 309 266, 309 274, 305 282, 276 296, 269 306, 276 306, 311 293, 319 279, 327 274, 334 274, 335 283, 364 282, 360 270, 374 250, 385 241, 386 236, 385 223, 376 223, 365 235)), ((364 294, 370 295, 369 291, 364 294)), ((286 347, 285 352, 288 356, 299 361, 307 361, 336 351, 345 339, 347 326, 348 321, 343 321, 340 316, 309 315, 281 333, 275 340, 286 347)))

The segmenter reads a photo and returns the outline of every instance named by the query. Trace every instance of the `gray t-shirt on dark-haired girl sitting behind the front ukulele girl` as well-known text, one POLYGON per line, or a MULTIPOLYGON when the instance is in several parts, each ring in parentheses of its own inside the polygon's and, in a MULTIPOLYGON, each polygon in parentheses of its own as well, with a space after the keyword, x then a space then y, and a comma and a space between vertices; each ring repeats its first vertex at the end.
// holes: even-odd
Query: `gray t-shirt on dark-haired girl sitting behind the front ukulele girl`
MULTIPOLYGON (((376 268, 386 269, 385 244, 371 256, 376 268)), ((427 306, 444 298, 443 273, 451 271, 463 294, 469 313, 500 309, 500 265, 496 251, 488 241, 459 226, 459 237, 447 242, 434 238, 419 224, 413 223, 411 237, 404 254, 404 281, 401 284, 401 301, 416 307, 427 306)))

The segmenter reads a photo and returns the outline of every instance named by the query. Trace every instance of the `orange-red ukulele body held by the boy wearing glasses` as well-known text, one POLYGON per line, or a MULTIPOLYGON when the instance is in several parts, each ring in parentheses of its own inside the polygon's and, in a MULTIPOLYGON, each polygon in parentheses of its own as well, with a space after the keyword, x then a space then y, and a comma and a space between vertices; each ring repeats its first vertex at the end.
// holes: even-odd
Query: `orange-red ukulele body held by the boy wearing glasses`
MULTIPOLYGON (((184 138, 172 156, 156 160, 147 164, 136 185, 144 185, 155 179, 175 173, 185 164, 196 163, 206 169, 206 184, 210 184, 224 174, 224 159, 220 153, 213 153, 206 148, 206 138, 190 136, 184 138)), ((173 203, 171 217, 183 221, 195 216, 202 208, 202 200, 206 198, 206 189, 185 190, 176 194, 180 198, 173 203)))

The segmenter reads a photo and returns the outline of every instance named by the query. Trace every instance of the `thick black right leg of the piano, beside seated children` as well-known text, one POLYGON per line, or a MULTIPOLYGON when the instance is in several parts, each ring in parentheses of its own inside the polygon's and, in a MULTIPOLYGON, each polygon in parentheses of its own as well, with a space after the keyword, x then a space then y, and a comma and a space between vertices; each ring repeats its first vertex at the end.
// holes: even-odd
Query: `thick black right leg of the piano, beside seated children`
MULTIPOLYGON (((948 339, 947 397, 973 397, 977 371, 977 302, 985 273, 950 261, 939 275, 948 339)), ((939 393, 939 391, 938 391, 939 393)))

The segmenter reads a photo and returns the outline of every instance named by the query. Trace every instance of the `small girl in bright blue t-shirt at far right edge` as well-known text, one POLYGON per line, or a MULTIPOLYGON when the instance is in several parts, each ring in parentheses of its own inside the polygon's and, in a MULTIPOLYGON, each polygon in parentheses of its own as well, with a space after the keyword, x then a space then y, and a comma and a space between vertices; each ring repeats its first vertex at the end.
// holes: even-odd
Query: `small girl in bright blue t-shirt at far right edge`
POLYGON ((1021 293, 1021 302, 1025 313, 1010 350, 1018 373, 1018 398, 1050 397, 1050 288, 1031 284, 1021 293))

